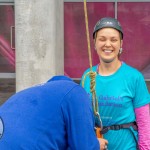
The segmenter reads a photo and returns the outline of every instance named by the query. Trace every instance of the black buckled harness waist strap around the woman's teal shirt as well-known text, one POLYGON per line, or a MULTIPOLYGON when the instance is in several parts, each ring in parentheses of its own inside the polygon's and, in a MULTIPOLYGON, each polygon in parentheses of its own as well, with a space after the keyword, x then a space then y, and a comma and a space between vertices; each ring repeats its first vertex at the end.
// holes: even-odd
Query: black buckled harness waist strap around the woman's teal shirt
POLYGON ((105 134, 109 130, 128 129, 131 126, 133 127, 134 130, 138 130, 136 122, 131 122, 131 123, 120 124, 120 125, 112 125, 112 126, 107 126, 107 127, 104 126, 103 129, 101 130, 101 134, 105 134))

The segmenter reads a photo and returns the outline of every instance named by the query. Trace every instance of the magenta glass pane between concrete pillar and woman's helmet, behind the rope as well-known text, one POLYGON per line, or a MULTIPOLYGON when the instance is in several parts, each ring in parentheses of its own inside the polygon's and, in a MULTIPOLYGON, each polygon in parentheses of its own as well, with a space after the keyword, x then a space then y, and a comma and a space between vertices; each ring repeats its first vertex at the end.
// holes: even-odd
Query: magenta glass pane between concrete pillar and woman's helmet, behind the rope
MULTIPOLYGON (((101 17, 114 17, 114 3, 88 2, 87 11, 92 61, 95 65, 99 61, 93 45, 93 28, 101 17)), ((65 74, 71 78, 81 78, 85 69, 89 68, 83 2, 64 3, 64 42, 65 74)))

